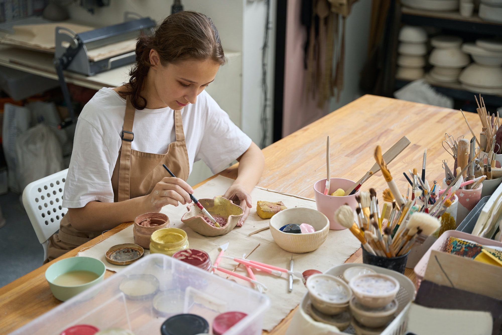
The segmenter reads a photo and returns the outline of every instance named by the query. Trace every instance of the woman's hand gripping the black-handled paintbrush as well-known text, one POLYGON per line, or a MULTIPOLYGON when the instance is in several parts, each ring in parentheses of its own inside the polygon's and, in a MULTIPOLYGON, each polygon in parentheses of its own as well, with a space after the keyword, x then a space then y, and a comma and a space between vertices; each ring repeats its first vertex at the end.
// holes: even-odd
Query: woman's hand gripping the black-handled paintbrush
POLYGON ((159 212, 166 205, 178 206, 191 203, 193 189, 184 180, 165 177, 158 182, 152 192, 145 198, 145 206, 149 212, 159 212))

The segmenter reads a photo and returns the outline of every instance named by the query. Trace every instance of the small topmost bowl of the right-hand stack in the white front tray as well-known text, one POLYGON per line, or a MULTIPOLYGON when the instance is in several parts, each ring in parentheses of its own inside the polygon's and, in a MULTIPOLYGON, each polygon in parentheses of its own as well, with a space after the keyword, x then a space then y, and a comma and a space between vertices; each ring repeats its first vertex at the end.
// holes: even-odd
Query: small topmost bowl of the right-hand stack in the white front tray
POLYGON ((365 274, 348 283, 352 293, 362 305, 381 308, 389 304, 399 291, 399 282, 384 274, 365 274))

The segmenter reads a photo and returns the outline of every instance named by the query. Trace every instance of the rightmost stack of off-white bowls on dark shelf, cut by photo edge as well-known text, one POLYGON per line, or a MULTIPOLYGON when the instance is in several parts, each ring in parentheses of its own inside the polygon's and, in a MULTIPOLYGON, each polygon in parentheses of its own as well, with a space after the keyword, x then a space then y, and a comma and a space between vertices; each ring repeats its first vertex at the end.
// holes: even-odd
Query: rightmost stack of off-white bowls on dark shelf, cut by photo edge
POLYGON ((478 39, 464 43, 462 50, 475 62, 460 74, 462 87, 475 93, 502 94, 502 41, 478 39))

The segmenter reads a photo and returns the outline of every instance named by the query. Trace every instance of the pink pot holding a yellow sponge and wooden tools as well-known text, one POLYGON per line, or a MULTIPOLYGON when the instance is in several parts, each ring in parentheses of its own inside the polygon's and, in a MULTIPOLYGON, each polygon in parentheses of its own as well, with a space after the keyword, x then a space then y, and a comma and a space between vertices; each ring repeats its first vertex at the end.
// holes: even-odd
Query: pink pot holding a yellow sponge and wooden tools
MULTIPOLYGON (((338 189, 346 190, 351 187, 355 182, 343 179, 343 178, 331 178, 329 182, 329 193, 331 194, 338 189)), ((341 205, 347 203, 352 210, 357 207, 357 201, 355 201, 355 196, 359 194, 359 191, 350 195, 343 197, 332 197, 330 195, 324 195, 324 187, 326 185, 326 179, 321 179, 314 184, 314 198, 317 206, 317 210, 328 217, 329 229, 342 230, 345 229, 340 225, 335 219, 335 211, 341 205)))

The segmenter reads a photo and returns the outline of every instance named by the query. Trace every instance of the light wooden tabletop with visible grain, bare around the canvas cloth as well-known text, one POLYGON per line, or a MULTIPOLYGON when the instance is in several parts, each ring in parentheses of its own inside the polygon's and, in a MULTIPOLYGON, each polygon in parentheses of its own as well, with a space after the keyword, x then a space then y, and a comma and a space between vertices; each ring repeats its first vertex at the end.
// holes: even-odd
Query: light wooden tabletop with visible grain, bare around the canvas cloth
MULTIPOLYGON (((474 132, 479 133, 478 116, 466 113, 466 117, 474 132)), ((459 111, 366 95, 265 148, 266 167, 259 186, 313 198, 313 184, 325 178, 326 174, 327 135, 330 135, 331 142, 331 177, 354 181, 373 165, 373 150, 377 144, 385 152, 406 135, 411 144, 389 164, 398 187, 406 193, 408 184, 402 173, 414 167, 420 171, 425 148, 427 179, 429 182, 443 179, 441 163, 442 159, 448 158, 441 146, 445 132, 455 138, 460 135, 471 137, 459 111)), ((451 156, 449 160, 452 161, 451 156)), ((236 166, 231 166, 221 175, 235 178, 236 166)), ((370 178, 362 189, 370 187, 377 190, 383 203, 381 191, 387 184, 380 172, 370 178)), ((130 224, 123 223, 117 228, 130 224)), ((105 232, 104 237, 116 232, 105 232)), ((96 241, 91 240, 82 247, 93 245, 96 241)), ((45 270, 55 261, 76 256, 79 249, 71 250, 0 288, 0 333, 9 333, 60 304, 45 280, 45 270)), ((347 262, 360 263, 361 250, 347 262)), ((105 277, 111 274, 107 271, 105 277)), ((412 269, 407 269, 405 274, 415 279, 412 269)), ((284 334, 295 310, 270 333, 284 334)))

